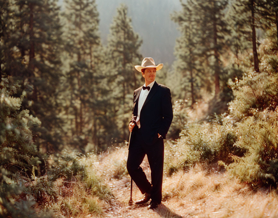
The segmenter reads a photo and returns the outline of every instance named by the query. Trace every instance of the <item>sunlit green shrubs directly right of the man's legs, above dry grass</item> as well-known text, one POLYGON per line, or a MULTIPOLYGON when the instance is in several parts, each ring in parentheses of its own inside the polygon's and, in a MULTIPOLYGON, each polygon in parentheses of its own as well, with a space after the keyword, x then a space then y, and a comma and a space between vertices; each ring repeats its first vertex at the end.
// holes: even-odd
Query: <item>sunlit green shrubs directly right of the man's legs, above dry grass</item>
POLYGON ((229 116, 216 116, 210 122, 191 123, 176 141, 165 143, 165 171, 168 175, 197 162, 227 160, 235 152, 235 129, 229 116))

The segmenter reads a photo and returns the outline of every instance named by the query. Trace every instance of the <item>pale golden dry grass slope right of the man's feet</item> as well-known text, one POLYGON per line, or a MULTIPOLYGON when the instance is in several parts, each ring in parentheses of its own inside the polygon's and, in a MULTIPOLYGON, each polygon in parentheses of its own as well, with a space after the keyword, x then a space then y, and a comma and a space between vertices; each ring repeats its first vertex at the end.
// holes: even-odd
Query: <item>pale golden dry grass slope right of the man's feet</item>
POLYGON ((209 173, 201 165, 177 172, 163 186, 165 204, 184 217, 278 217, 275 191, 254 192, 226 173, 209 173))

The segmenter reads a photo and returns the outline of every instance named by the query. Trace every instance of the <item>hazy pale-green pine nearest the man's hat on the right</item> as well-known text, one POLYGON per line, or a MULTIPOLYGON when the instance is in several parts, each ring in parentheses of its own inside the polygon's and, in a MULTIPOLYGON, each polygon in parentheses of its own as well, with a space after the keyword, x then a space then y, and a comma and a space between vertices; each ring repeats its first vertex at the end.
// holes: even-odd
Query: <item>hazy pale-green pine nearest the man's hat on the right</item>
POLYGON ((194 2, 187 1, 186 4, 182 3, 182 11, 173 13, 172 20, 179 25, 178 29, 182 34, 176 40, 174 73, 183 76, 183 80, 180 81, 185 92, 183 98, 191 98, 191 106, 193 106, 196 98, 200 97, 198 91, 203 75, 200 74, 202 72, 200 64, 200 14, 195 11, 194 2))

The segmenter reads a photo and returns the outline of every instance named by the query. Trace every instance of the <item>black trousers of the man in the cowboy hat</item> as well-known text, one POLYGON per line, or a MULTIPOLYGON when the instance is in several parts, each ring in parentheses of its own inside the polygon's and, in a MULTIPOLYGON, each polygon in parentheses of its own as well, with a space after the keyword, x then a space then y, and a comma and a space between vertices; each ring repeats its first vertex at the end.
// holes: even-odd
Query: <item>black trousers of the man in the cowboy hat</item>
POLYGON ((143 142, 141 129, 137 125, 134 127, 134 138, 129 146, 127 170, 142 194, 150 193, 150 198, 161 203, 162 199, 162 179, 164 162, 164 142, 163 138, 157 138, 150 146, 143 142), (151 183, 148 181, 145 172, 140 167, 145 155, 148 157, 151 170, 151 183))

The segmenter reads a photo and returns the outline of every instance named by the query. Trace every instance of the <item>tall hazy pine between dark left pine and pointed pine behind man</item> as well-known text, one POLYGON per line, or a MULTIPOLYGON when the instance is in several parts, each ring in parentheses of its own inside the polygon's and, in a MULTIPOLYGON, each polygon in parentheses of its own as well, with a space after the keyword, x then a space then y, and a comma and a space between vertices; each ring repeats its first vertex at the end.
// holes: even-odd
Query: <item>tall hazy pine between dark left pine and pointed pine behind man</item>
POLYGON ((67 142, 84 151, 103 150, 110 142, 111 120, 107 108, 109 88, 105 75, 105 48, 99 36, 99 14, 95 0, 66 0, 65 80, 61 84, 68 129, 67 142))

